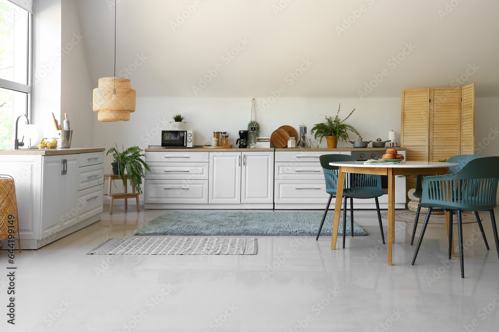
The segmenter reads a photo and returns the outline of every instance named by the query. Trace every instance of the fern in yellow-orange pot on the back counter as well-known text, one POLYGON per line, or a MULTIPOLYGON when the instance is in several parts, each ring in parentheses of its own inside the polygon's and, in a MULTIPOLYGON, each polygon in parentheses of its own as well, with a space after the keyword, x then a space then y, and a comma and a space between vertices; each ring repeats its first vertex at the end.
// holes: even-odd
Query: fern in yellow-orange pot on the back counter
POLYGON ((321 123, 316 123, 310 130, 310 134, 313 134, 315 139, 319 138, 319 143, 322 142, 322 138, 326 137, 327 147, 336 148, 338 140, 346 141, 348 140, 348 132, 350 130, 354 134, 360 137, 359 132, 351 124, 345 123, 346 119, 352 115, 353 111, 348 114, 343 120, 340 118, 340 107, 338 106, 338 112, 333 118, 332 116, 325 116, 325 121, 321 123))

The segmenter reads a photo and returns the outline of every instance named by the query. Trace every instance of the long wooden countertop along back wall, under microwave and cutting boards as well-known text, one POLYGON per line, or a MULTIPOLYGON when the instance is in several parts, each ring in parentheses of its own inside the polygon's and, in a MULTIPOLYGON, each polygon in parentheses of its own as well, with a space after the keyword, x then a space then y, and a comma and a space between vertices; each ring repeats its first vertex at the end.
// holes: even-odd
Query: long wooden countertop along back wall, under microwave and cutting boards
MULTIPOLYGON (((144 151, 145 152, 242 152, 242 151, 254 151, 254 152, 259 152, 259 151, 385 151, 389 149, 389 147, 366 147, 366 148, 354 148, 354 147, 345 147, 345 148, 336 148, 336 149, 328 149, 328 148, 313 148, 313 149, 300 149, 300 148, 246 148, 246 149, 239 149, 239 148, 232 148, 232 149, 212 149, 212 148, 203 148, 201 145, 196 145, 196 147, 192 148, 184 148, 184 149, 179 149, 179 148, 147 148, 144 151)), ((396 147, 397 150, 400 151, 405 151, 405 147, 396 147)), ((1 151, 0 151, 1 152, 1 151)))

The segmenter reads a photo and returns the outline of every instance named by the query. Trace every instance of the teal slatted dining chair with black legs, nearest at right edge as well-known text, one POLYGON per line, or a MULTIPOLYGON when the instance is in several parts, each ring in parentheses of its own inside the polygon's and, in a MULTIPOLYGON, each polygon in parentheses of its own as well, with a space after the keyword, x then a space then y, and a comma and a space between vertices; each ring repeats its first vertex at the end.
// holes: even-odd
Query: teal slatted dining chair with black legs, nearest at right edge
MULTIPOLYGON (((499 258, 499 239, 494 216, 496 208, 497 187, 499 183, 499 157, 483 157, 471 160, 456 173, 437 176, 426 176, 423 179, 423 195, 421 197, 422 208, 428 208, 425 223, 419 236, 418 245, 414 252, 412 265, 418 256, 423 236, 435 207, 449 211, 452 215, 454 211, 458 214, 459 233, 459 255, 461 263, 461 278, 464 274, 463 256, 463 224, 461 213, 463 211, 489 211, 491 214, 492 228, 496 240, 496 249, 499 258)), ((452 251, 452 222, 449 222, 449 259, 452 251)))

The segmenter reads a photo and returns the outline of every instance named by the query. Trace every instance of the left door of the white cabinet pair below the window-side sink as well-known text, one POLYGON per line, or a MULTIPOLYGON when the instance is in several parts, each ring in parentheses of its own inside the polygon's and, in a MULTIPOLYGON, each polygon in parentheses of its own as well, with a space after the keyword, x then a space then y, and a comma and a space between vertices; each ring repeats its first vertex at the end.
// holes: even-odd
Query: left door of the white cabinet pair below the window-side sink
POLYGON ((61 230, 62 157, 43 157, 40 238, 61 230))

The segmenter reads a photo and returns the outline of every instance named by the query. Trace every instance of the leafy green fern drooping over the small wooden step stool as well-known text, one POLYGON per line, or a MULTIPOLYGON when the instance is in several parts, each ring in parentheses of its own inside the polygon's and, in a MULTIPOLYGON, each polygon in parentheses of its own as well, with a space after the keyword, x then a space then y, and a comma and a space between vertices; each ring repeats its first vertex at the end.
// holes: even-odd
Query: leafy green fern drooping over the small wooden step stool
MULTIPOLYGON (((116 145, 116 143, 114 143, 116 145)), ((116 148, 112 147, 107 150, 106 156, 111 153, 114 161, 113 161, 113 174, 118 175, 119 178, 123 181, 123 186, 126 186, 125 180, 125 170, 128 178, 130 179, 130 183, 132 184, 135 192, 142 194, 142 190, 140 185, 142 184, 142 178, 144 177, 144 167, 148 171, 150 171, 149 166, 146 164, 141 157, 144 157, 145 154, 141 154, 143 151, 138 146, 131 146, 128 149, 122 148, 122 152, 118 151, 118 146, 116 148), (144 167, 142 167, 144 166, 144 167), (114 172, 116 168, 116 173, 114 172)))

